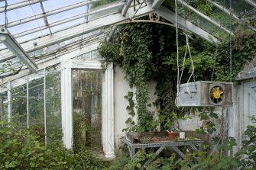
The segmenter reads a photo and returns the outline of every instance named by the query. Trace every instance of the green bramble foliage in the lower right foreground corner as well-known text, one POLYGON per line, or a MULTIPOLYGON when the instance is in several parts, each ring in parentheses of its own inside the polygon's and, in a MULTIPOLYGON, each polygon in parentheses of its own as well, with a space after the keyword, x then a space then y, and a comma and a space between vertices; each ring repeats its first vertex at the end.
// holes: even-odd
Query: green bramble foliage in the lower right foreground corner
MULTIPOLYGON (((251 117, 252 123, 256 122, 255 117, 251 117)), ((184 169, 255 169, 256 168, 256 126, 248 125, 245 130, 248 140, 242 141, 243 146, 238 149, 234 156, 228 156, 232 152, 233 146, 237 146, 235 139, 228 137, 219 145, 217 152, 207 155, 207 152, 187 155, 184 169), (189 164, 193 164, 191 167, 189 164)))

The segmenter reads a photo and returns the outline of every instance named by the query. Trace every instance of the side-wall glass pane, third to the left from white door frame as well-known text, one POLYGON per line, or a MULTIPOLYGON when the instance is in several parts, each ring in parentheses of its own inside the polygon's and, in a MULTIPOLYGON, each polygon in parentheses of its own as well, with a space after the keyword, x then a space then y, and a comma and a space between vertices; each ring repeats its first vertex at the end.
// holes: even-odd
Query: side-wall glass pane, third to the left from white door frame
MULTIPOLYGON (((15 83, 12 83, 14 86, 15 83)), ((19 127, 28 127, 27 120, 27 84, 11 88, 11 116, 19 127)))

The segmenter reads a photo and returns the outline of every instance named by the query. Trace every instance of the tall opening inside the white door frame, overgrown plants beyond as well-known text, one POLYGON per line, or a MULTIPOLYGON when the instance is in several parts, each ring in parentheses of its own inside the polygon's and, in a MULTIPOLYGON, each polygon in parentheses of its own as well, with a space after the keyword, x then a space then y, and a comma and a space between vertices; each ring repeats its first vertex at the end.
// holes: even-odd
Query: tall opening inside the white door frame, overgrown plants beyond
POLYGON ((102 70, 73 70, 73 142, 102 152, 102 70))

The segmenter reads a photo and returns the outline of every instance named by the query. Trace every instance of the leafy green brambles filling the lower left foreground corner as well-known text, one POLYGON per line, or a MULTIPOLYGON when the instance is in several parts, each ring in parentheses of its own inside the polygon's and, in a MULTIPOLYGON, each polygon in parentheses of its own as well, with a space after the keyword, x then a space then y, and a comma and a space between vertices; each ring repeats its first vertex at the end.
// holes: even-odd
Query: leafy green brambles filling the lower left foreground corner
POLYGON ((0 169, 104 169, 86 150, 73 153, 61 141, 45 146, 39 136, 0 120, 0 169))

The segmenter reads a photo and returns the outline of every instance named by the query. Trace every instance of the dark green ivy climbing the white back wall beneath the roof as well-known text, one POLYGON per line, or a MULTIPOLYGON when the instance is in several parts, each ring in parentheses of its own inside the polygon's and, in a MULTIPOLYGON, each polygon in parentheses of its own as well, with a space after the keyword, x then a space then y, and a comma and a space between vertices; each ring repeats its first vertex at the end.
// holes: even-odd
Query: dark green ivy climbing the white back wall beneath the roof
MULTIPOLYGON (((193 36, 194 40, 190 40, 190 50, 195 68, 195 81, 235 81, 235 75, 246 62, 254 58, 256 53, 255 34, 250 31, 242 34, 247 36, 241 37, 237 34, 230 39, 231 41, 217 45, 202 43, 202 40, 193 36)), ((177 91, 177 49, 174 37, 175 30, 167 25, 130 23, 122 25, 119 34, 112 41, 103 42, 99 46, 100 56, 120 64, 125 72, 125 79, 128 79, 131 87, 135 86, 137 89, 136 94, 133 94, 136 96, 136 104, 129 102, 130 106, 127 107, 131 116, 134 116, 132 109, 136 108, 138 111, 138 126, 134 125, 132 119, 126 122, 130 123, 131 127, 135 126, 133 131, 154 130, 156 127, 156 123, 152 123, 153 114, 147 111, 147 82, 151 79, 157 82, 158 98, 155 104, 160 107, 160 119, 157 121, 161 129, 170 128, 172 120, 182 117, 186 112, 180 111, 174 104, 177 91)), ((183 34, 179 35, 179 47, 181 69, 186 50, 186 39, 183 34)), ((184 62, 181 83, 187 82, 192 72, 188 54, 184 62)), ((131 93, 127 96, 131 97, 131 93)), ((129 101, 132 101, 131 98, 129 101)))

